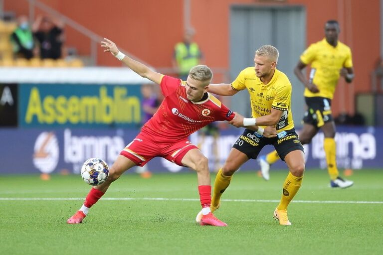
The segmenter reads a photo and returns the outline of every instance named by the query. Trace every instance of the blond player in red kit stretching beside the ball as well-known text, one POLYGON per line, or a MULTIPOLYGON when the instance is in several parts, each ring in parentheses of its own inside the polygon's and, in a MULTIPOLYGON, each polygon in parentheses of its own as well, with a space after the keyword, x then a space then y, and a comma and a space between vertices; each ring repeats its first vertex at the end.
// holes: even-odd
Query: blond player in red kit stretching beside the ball
MULTIPOLYGON (((178 165, 191 167, 197 172, 203 214, 200 225, 227 226, 210 212, 211 185, 207 158, 188 140, 190 134, 213 121, 234 119, 234 114, 226 106, 207 93, 212 78, 211 70, 207 66, 195 66, 191 69, 188 79, 182 81, 154 72, 144 64, 125 56, 114 42, 106 38, 101 42, 101 46, 105 48, 104 52, 111 52, 142 77, 159 84, 165 99, 136 138, 120 152, 109 169, 109 177, 105 183, 90 190, 83 206, 67 223, 81 223, 89 208, 126 170, 135 165, 143 166, 152 158, 161 156, 178 165)), ((256 126, 253 128, 258 130, 256 126)), ((275 137, 275 128, 265 128, 264 135, 275 137)))

